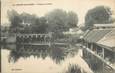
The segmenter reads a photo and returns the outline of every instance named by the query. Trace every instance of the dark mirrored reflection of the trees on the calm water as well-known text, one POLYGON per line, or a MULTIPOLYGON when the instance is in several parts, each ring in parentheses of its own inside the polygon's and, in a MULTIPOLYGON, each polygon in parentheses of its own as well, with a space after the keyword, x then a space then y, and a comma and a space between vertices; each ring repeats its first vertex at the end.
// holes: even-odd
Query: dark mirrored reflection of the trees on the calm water
MULTIPOLYGON (((68 55, 72 54, 68 46, 32 46, 32 45, 17 45, 12 49, 9 55, 9 62, 17 62, 19 58, 28 58, 34 56, 45 59, 50 57, 56 63, 63 61, 68 55), (69 51, 68 51, 69 50, 69 51)), ((75 52, 75 51, 74 51, 75 52)))

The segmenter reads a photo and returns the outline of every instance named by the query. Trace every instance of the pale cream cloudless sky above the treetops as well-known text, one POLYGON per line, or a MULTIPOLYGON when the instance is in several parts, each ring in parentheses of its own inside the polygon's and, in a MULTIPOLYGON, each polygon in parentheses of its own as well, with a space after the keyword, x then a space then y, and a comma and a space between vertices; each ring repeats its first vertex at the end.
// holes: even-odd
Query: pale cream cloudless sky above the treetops
POLYGON ((108 6, 112 11, 115 12, 115 0, 1 0, 1 2, 2 25, 9 24, 7 16, 8 10, 15 10, 19 14, 23 12, 35 14, 38 17, 44 16, 46 13, 54 9, 73 11, 78 15, 78 25, 84 23, 84 17, 87 11, 96 6, 108 6))

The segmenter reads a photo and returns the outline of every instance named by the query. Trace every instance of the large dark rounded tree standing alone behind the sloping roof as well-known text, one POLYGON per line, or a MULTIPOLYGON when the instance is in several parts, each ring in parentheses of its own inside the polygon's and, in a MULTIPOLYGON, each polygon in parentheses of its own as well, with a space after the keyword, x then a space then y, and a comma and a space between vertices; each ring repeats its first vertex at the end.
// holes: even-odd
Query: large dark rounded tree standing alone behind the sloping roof
POLYGON ((88 29, 93 24, 108 24, 112 23, 112 12, 109 7, 97 6, 90 9, 85 16, 85 27, 88 29))

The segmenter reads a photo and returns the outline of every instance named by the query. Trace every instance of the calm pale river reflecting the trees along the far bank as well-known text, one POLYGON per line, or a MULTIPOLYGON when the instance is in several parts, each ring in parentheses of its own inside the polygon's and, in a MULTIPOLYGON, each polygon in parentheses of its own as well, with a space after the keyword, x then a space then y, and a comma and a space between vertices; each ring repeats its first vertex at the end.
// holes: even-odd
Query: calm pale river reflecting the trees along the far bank
POLYGON ((79 47, 18 47, 2 48, 2 73, 68 73, 72 65, 81 73, 93 73, 79 47))

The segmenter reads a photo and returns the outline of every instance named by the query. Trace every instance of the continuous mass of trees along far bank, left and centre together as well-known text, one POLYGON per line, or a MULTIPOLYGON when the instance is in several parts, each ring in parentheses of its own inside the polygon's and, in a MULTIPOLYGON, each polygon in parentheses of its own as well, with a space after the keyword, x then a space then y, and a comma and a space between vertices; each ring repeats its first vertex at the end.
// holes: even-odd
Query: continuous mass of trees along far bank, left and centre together
POLYGON ((10 30, 16 33, 47 33, 61 34, 69 28, 75 27, 78 18, 74 12, 66 12, 61 9, 53 10, 43 17, 27 13, 18 14, 16 11, 8 11, 10 30))

